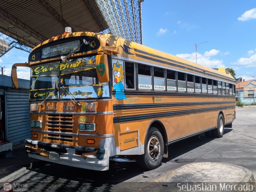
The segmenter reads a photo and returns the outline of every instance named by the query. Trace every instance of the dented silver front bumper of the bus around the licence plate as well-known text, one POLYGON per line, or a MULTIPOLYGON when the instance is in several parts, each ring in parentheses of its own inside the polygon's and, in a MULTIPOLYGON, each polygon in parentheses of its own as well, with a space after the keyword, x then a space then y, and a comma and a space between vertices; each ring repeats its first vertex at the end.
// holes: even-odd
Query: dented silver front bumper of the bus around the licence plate
POLYGON ((90 170, 109 169, 108 148, 69 146, 32 139, 26 139, 25 144, 28 156, 32 158, 90 170), (58 160, 50 159, 50 153, 59 154, 58 160))

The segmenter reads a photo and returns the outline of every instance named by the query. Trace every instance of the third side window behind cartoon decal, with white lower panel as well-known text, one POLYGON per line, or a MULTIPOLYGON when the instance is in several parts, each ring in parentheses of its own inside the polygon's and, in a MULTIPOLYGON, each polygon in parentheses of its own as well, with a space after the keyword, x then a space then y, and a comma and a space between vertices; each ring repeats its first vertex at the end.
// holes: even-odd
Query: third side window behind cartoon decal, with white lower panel
POLYGON ((154 67, 154 90, 165 91, 164 69, 154 67))

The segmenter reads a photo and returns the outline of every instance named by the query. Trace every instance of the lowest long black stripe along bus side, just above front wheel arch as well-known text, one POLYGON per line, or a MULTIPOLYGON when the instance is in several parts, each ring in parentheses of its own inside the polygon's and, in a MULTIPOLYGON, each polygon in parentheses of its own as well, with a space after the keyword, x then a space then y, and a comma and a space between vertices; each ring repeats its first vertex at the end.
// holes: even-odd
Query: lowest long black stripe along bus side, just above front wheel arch
POLYGON ((114 123, 135 121, 135 120, 142 120, 142 119, 151 119, 151 118, 160 118, 160 117, 181 115, 181 114, 191 114, 191 113, 197 113, 197 112, 206 112, 206 111, 228 109, 228 108, 235 108, 235 106, 212 107, 212 108, 203 108, 203 109, 189 109, 189 110, 183 110, 183 111, 172 111, 172 112, 161 112, 161 113, 114 117, 114 123))

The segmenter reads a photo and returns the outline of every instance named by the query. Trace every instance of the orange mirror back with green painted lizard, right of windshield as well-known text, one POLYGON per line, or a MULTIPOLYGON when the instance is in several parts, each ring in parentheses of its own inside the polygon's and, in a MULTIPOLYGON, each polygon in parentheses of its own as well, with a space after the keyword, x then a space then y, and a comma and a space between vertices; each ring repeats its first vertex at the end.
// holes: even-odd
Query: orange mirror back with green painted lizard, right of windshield
POLYGON ((99 82, 109 82, 108 56, 106 54, 96 55, 96 71, 99 82))

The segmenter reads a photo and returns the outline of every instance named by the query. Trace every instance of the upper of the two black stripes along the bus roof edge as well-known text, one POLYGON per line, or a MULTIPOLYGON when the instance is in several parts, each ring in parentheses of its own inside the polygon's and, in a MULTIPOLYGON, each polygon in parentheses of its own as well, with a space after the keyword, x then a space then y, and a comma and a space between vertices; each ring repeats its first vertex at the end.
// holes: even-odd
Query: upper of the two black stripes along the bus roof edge
MULTIPOLYGON (((170 61, 170 62, 182 64, 182 65, 188 66, 188 67, 190 67, 190 68, 195 68, 195 69, 198 69, 198 70, 202 70, 202 69, 200 69, 200 68, 198 68, 198 67, 194 67, 194 66, 188 65, 188 64, 186 64, 186 63, 182 63, 182 62, 176 61, 176 60, 172 60, 172 59, 169 59, 169 58, 165 58, 165 57, 162 57, 162 56, 158 56, 158 55, 155 55, 155 54, 152 54, 152 53, 148 53, 148 52, 145 52, 145 51, 142 51, 142 50, 138 50, 138 49, 134 49, 134 50, 135 50, 136 52, 139 52, 139 53, 142 53, 142 54, 146 54, 146 55, 153 56, 153 57, 156 57, 156 58, 168 60, 168 61, 170 61)), ((139 55, 139 56, 141 56, 141 55, 139 55)), ((152 59, 152 58, 150 58, 150 59, 152 59)), ((163 61, 162 61, 162 62, 163 62, 163 61)), ((177 66, 177 65, 173 65, 173 66, 177 66)), ((177 67, 186 68, 186 67, 184 67, 184 66, 177 66, 177 67)), ((194 71, 194 69, 191 69, 191 70, 194 71)), ((202 73, 201 71, 199 71, 199 72, 202 73)), ((224 75, 219 75, 219 74, 216 74, 216 73, 210 72, 210 71, 207 71, 207 72, 208 72, 208 73, 211 73, 211 74, 215 74, 215 75, 217 75, 218 77, 221 76, 221 77, 224 77, 224 78, 226 78, 226 79, 229 79, 229 80, 234 81, 234 79, 228 78, 228 77, 226 77, 226 76, 224 76, 224 75)), ((203 73, 203 74, 205 74, 205 73, 203 73)), ((208 75, 211 75, 211 74, 208 74, 208 75)), ((211 75, 211 76, 213 76, 213 75, 211 75)))

